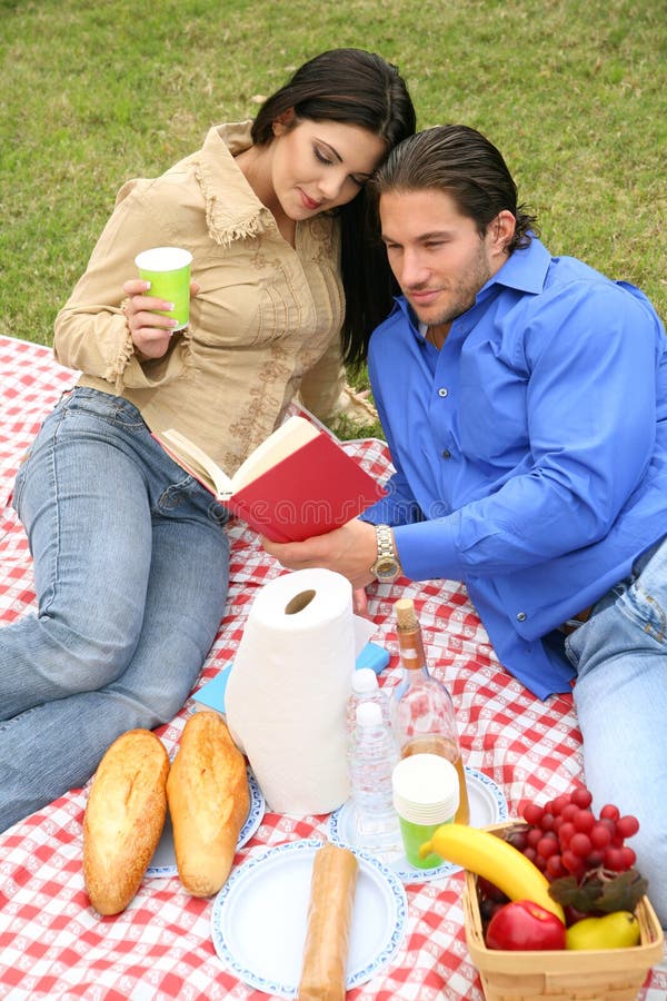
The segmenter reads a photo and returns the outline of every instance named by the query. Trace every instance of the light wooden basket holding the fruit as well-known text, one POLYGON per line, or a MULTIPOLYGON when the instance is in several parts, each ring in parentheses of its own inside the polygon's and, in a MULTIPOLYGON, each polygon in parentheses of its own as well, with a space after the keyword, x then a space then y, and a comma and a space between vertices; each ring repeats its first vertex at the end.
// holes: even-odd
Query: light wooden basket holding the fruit
MULTIPOLYGON (((502 830, 515 824, 499 824, 502 830)), ((637 906, 641 939, 633 949, 509 951, 487 949, 477 876, 466 873, 466 939, 487 1001, 635 1001, 647 973, 660 962, 663 929, 648 898, 637 906)))

